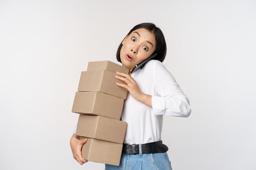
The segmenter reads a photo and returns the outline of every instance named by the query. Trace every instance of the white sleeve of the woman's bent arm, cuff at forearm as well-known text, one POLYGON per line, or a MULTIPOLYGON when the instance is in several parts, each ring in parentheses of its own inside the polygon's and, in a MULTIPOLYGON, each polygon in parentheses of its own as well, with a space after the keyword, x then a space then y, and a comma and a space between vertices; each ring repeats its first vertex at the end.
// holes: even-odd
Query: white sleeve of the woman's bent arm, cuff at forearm
POLYGON ((155 115, 189 117, 191 107, 189 98, 177 84, 171 73, 161 62, 153 65, 155 96, 152 95, 152 107, 155 115))

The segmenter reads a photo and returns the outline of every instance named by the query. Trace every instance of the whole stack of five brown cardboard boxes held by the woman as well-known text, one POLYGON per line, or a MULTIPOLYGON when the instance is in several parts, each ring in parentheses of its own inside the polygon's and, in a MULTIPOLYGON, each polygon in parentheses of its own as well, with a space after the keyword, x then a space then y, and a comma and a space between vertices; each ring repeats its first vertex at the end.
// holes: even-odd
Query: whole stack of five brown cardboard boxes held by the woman
POLYGON ((116 71, 129 69, 110 61, 89 62, 81 74, 72 112, 79 116, 76 135, 88 138, 82 147, 83 159, 119 166, 126 122, 120 121, 127 89, 116 82, 116 71))

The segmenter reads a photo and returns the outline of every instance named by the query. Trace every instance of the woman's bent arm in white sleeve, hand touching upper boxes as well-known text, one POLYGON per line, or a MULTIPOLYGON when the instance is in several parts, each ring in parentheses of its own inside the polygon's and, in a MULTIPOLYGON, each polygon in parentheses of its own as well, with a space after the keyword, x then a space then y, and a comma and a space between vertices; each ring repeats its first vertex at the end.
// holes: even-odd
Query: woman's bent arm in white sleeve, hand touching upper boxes
POLYGON ((153 79, 152 83, 154 83, 156 95, 142 93, 137 82, 125 73, 117 72, 116 78, 126 82, 126 84, 117 83, 117 85, 126 88, 137 101, 153 108, 155 115, 188 117, 191 113, 189 98, 182 92, 164 64, 159 61, 148 62, 145 67, 149 68, 145 72, 149 74, 147 76, 150 79, 153 79))

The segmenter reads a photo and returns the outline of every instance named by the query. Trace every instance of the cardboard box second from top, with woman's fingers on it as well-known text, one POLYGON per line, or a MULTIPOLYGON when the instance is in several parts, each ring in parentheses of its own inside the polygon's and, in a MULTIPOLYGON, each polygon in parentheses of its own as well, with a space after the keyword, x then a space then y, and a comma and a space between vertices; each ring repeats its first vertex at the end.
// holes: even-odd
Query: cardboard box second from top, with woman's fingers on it
POLYGON ((107 70, 82 71, 78 91, 100 91, 126 99, 127 89, 118 86, 116 82, 126 83, 117 79, 116 75, 107 70))

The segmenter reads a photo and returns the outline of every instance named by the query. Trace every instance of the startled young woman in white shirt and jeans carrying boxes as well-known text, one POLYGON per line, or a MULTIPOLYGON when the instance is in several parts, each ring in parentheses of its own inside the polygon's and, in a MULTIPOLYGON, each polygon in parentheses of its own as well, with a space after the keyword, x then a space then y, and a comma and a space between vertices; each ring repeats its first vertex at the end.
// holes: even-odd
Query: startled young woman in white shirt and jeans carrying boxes
MULTIPOLYGON (((171 170, 171 162, 162 144, 163 115, 188 117, 189 98, 182 92, 162 62, 166 42, 162 31, 152 23, 136 25, 126 35, 117 50, 117 61, 132 70, 138 63, 157 53, 139 70, 125 74, 117 72, 117 79, 126 84, 129 93, 124 102, 121 120, 127 122, 124 147, 119 166, 106 164, 105 170, 171 170)), ((75 134, 70 140, 74 158, 83 164, 80 141, 75 134)))

